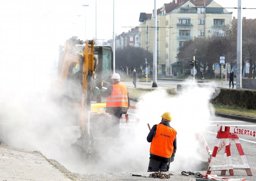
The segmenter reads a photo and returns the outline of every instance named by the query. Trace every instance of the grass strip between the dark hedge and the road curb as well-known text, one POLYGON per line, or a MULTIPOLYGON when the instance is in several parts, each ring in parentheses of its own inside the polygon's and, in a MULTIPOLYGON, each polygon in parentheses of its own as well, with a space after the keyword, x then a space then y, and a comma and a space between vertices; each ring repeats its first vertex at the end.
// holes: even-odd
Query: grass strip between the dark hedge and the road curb
POLYGON ((243 116, 247 118, 256 119, 256 110, 246 109, 238 106, 222 105, 222 104, 213 104, 215 112, 223 114, 231 114, 236 116, 243 116))

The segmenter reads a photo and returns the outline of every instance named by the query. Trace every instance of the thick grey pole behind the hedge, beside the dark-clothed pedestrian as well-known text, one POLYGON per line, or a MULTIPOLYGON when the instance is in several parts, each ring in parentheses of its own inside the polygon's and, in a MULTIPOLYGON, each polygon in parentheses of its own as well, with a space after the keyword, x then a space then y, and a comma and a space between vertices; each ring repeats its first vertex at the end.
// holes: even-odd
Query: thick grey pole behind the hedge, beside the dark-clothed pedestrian
MULTIPOLYGON (((241 0, 237 7, 237 53, 236 53, 236 89, 242 89, 242 8, 241 0)), ((232 68, 232 67, 231 67, 232 68)))

